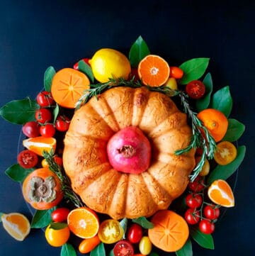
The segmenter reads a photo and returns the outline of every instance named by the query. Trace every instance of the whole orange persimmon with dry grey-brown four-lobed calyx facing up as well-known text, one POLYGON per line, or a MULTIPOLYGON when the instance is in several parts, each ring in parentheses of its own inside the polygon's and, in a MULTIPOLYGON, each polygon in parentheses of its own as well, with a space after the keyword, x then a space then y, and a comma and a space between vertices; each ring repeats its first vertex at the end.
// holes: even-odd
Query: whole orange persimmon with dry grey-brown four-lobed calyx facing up
POLYGON ((22 193, 24 199, 38 210, 50 209, 63 198, 60 179, 48 168, 35 169, 28 174, 22 193))

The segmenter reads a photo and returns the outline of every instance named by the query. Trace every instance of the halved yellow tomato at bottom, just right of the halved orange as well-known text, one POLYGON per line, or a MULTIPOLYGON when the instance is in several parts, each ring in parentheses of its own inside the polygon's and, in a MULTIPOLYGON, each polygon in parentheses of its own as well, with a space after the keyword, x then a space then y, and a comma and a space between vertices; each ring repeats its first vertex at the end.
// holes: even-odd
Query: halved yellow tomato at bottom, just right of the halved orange
POLYGON ((123 238, 123 228, 117 220, 107 219, 103 221, 98 230, 98 238, 103 243, 116 243, 123 238))

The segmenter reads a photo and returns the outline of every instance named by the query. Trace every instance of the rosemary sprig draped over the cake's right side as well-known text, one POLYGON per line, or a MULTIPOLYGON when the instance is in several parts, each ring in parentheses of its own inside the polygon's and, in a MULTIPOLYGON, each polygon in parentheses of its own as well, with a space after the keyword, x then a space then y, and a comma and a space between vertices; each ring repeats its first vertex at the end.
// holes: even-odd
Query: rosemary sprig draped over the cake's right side
POLYGON ((208 132, 208 129, 205 128, 205 126, 203 126, 203 123, 201 123, 201 121, 198 119, 196 113, 191 110, 190 105, 187 101, 188 96, 183 91, 179 92, 179 96, 181 98, 181 104, 183 105, 183 111, 188 114, 188 117, 191 119, 191 128, 193 135, 190 145, 182 150, 176 150, 175 153, 176 155, 181 155, 184 152, 188 152, 189 150, 191 150, 191 148, 202 148, 203 150, 200 161, 196 165, 195 169, 193 169, 193 173, 191 174, 191 182, 193 182, 205 163, 205 157, 208 157, 209 160, 212 159, 216 149, 216 143, 214 138, 212 138, 212 136, 208 132))

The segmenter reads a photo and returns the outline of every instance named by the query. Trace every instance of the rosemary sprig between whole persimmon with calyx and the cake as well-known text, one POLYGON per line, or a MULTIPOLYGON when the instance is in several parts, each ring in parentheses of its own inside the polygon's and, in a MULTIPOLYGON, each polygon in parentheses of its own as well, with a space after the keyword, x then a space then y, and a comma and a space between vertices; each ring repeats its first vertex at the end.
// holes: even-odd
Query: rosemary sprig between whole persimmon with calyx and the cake
POLYGON ((62 167, 60 167, 60 165, 57 165, 57 162, 55 162, 53 150, 51 150, 50 152, 44 151, 42 152, 42 155, 43 157, 45 157, 47 163, 49 164, 50 170, 54 172, 60 179, 61 189, 64 193, 64 198, 67 199, 67 201, 72 201, 72 203, 76 207, 84 206, 79 196, 75 194, 72 190, 69 178, 66 174, 63 173, 62 167))

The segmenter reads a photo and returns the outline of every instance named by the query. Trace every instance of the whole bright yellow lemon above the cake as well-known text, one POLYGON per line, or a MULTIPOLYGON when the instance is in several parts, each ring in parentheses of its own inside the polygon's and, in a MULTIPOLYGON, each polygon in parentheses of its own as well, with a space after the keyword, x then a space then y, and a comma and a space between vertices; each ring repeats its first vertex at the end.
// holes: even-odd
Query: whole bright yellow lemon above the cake
POLYGON ((109 78, 128 79, 130 62, 123 53, 110 48, 98 50, 89 60, 94 77, 98 82, 108 82, 109 78))

